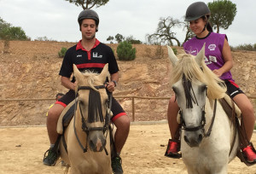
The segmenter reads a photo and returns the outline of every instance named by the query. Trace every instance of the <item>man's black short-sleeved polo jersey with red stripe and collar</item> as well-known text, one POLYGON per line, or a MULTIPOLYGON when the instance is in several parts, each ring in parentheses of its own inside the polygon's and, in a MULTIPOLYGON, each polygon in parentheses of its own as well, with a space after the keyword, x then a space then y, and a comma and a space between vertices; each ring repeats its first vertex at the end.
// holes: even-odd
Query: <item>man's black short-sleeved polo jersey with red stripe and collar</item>
POLYGON ((73 73, 73 64, 79 68, 80 72, 90 70, 93 73, 101 73, 107 63, 110 74, 119 72, 113 50, 108 45, 102 44, 96 39, 94 47, 86 50, 79 41, 78 44, 67 49, 59 75, 70 78, 73 73))

